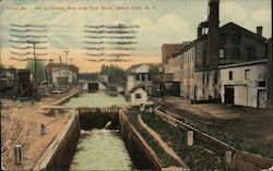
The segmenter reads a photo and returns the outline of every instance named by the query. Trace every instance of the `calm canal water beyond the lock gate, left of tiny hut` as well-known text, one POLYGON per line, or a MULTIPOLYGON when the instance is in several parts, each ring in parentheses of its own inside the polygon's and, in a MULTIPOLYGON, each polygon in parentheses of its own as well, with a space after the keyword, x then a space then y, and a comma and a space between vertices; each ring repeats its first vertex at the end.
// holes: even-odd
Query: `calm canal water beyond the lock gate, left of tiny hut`
POLYGON ((83 108, 107 108, 122 105, 130 103, 126 101, 122 95, 109 96, 105 90, 79 94, 79 96, 72 97, 68 102, 63 103, 67 107, 83 108))

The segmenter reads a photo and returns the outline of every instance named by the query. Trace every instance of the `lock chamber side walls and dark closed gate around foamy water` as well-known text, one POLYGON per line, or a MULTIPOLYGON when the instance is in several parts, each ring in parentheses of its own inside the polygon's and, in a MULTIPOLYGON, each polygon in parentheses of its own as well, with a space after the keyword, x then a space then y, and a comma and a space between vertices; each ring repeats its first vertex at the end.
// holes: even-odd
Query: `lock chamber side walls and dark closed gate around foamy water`
POLYGON ((114 107, 79 110, 79 113, 69 119, 63 130, 44 151, 34 170, 68 169, 79 143, 80 130, 103 129, 109 121, 112 124, 110 129, 119 130, 134 169, 161 170, 167 168, 155 155, 145 138, 134 129, 127 114, 114 107))

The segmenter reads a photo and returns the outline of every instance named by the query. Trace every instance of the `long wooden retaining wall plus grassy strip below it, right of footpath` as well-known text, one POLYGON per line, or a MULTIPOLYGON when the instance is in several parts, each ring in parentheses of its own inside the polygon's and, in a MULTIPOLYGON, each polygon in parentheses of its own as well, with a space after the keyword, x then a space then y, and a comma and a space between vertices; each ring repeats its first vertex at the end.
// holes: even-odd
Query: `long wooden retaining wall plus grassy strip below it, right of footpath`
MULTIPOLYGON (((189 163, 191 168, 197 168, 197 170, 204 169, 206 166, 210 168, 212 166, 218 166, 219 170, 244 170, 244 171, 256 171, 262 169, 269 169, 273 166, 273 159, 262 157, 261 155, 254 155, 239 150, 213 136, 210 136, 195 127, 192 127, 157 109, 154 110, 154 115, 143 114, 143 120, 149 122, 152 127, 158 130, 164 139, 169 139, 173 146, 180 151, 182 158, 185 158, 186 163, 189 163), (153 117, 151 119, 151 117, 153 117), (146 119, 145 119, 146 118, 146 119), (156 126, 154 121, 161 121, 162 124, 165 122, 168 125, 156 126), (167 122, 166 122, 167 121, 167 122), (157 127, 157 129, 156 129, 157 127), (175 130, 175 133, 174 131, 175 130), (180 146, 176 143, 177 135, 182 136, 179 141, 187 141, 187 134, 189 131, 193 132, 193 146, 180 146), (174 135, 171 135, 174 133, 174 135), (203 152, 202 152, 203 151, 203 152), (207 155, 205 155, 207 154, 207 155), (206 156, 206 157, 205 157, 206 156), (203 159, 202 159, 203 158, 203 159), (193 162, 194 161, 194 162, 193 162), (198 164, 200 162, 200 164, 198 164)), ((181 144, 181 143, 180 143, 181 144)), ((194 169, 193 169, 194 170, 194 169)))

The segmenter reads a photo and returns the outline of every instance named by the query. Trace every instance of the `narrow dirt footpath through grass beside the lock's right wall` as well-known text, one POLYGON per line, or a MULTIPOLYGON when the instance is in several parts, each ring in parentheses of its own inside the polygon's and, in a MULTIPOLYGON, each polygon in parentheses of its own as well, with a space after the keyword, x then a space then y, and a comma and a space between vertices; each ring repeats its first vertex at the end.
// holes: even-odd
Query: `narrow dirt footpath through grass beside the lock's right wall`
POLYGON ((186 163, 182 161, 182 159, 174 151, 171 147, 169 147, 161 137, 159 134, 157 134, 154 130, 152 130, 141 118, 141 114, 138 114, 138 120, 140 124, 158 142, 158 144, 164 148, 164 150, 169 154, 171 157, 174 157, 181 166, 186 166, 186 163))

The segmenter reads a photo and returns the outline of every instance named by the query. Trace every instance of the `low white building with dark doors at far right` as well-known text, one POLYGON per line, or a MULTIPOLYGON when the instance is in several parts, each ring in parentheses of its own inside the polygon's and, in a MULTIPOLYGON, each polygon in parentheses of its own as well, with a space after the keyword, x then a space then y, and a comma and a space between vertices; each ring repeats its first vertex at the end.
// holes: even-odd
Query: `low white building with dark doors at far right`
POLYGON ((222 102, 265 108, 266 59, 221 65, 222 102))

